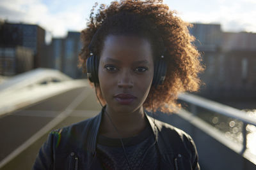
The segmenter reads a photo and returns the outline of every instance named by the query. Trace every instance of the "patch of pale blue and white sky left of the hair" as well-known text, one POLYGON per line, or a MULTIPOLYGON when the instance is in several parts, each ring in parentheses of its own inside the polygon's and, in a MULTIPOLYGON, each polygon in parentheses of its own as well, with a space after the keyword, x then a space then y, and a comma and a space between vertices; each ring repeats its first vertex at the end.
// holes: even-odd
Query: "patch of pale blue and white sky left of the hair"
MULTIPOLYGON (((67 31, 81 31, 96 1, 69 0, 1 0, 0 18, 10 22, 38 24, 53 36, 65 36, 67 31)), ((109 0, 97 1, 109 4, 109 0)))

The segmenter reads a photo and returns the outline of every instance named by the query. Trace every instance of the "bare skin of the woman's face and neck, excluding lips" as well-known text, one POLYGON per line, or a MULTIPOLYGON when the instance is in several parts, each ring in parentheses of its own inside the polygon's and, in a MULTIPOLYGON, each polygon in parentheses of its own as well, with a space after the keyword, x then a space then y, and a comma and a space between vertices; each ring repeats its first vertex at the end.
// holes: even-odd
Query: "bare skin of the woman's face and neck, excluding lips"
POLYGON ((153 54, 147 39, 136 36, 106 37, 100 55, 99 81, 110 118, 103 115, 99 131, 101 135, 129 138, 145 129, 147 122, 143 103, 150 91, 153 75, 153 54), (136 98, 129 104, 121 104, 115 98, 120 93, 136 98))

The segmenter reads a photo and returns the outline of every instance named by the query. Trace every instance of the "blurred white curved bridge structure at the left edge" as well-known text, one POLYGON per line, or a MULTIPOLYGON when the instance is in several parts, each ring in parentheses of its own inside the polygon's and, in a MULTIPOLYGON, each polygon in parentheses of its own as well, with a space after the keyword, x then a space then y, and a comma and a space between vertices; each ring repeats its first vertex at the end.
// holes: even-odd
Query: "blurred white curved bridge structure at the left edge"
POLYGON ((13 76, 0 84, 0 117, 77 87, 86 80, 74 80, 54 69, 38 68, 13 76))

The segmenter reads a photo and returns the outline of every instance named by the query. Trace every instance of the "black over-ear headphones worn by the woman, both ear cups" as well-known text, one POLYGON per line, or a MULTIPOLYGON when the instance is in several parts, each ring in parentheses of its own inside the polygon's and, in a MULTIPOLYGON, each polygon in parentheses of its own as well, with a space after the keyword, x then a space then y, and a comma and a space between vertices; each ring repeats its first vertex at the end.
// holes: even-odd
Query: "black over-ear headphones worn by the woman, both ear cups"
MULTIPOLYGON (((91 45, 91 43, 90 43, 91 45)), ((90 46, 89 45, 89 46, 90 46)), ((165 51, 165 50, 164 50, 165 51)), ((99 57, 90 52, 90 57, 86 61, 87 77, 92 83, 99 83, 99 57)), ((154 76, 152 86, 157 88, 157 85, 163 84, 166 75, 166 62, 164 61, 164 55, 158 57, 154 62, 154 76)))

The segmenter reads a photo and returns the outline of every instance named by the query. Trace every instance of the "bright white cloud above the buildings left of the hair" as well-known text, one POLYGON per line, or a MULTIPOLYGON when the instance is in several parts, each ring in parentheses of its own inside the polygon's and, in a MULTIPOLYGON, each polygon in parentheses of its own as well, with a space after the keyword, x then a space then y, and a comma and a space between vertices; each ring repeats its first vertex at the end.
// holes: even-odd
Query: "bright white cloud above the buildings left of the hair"
MULTIPOLYGON (((56 4, 58 5, 58 3, 56 4)), ((0 3, 0 17, 10 22, 26 22, 38 24, 54 36, 64 36, 67 30, 79 31, 85 27, 86 20, 83 6, 77 4, 68 10, 49 11, 49 6, 38 0, 10 3, 6 0, 0 3)))

